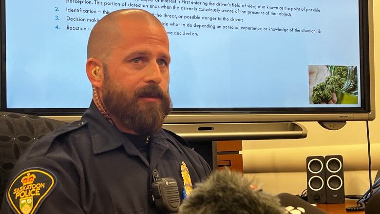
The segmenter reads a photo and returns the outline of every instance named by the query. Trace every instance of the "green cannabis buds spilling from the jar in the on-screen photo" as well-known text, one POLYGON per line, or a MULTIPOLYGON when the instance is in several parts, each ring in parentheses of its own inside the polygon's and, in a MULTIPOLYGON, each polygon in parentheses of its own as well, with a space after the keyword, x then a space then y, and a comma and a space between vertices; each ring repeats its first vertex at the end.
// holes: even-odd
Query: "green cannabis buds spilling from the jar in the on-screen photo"
POLYGON ((313 103, 328 103, 331 100, 331 94, 343 87, 346 78, 347 66, 336 66, 332 76, 327 77, 323 82, 314 86, 311 97, 313 103))

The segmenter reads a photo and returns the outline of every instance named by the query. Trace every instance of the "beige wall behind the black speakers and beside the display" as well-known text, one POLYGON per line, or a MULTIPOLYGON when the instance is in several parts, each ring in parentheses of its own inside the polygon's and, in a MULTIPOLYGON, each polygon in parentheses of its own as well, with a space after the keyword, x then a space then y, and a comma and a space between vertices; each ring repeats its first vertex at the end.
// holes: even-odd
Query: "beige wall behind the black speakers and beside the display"
MULTIPOLYGON (((373 2, 374 64, 380 69, 380 1, 373 2)), ((375 87, 380 75, 375 74, 375 87)), ((372 169, 380 169, 380 92, 376 96, 377 118, 369 122, 372 169)), ((305 139, 243 141, 245 176, 254 177, 267 192, 301 194, 306 188, 307 156, 342 155, 346 194, 362 194, 369 185, 365 122, 349 121, 341 130, 330 131, 317 122, 302 122, 308 131, 305 139)), ((376 171, 373 173, 373 177, 376 171)))

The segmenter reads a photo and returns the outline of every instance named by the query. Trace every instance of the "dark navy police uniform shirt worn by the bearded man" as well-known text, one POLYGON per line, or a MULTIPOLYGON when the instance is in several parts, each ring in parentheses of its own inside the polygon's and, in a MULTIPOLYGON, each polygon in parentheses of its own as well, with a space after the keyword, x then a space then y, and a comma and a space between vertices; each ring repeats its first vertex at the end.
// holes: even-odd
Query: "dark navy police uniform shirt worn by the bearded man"
POLYGON ((149 158, 130 139, 92 102, 80 121, 45 135, 19 158, 1 214, 158 213, 150 203, 153 170, 173 177, 180 195, 184 163, 192 184, 210 174, 206 161, 169 131, 150 137, 149 158))

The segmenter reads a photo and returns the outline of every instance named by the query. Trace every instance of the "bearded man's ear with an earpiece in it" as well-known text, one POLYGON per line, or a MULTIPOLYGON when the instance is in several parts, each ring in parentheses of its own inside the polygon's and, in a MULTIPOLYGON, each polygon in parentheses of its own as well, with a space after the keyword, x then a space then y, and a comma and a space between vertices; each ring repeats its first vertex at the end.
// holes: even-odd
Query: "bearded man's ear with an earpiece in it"
POLYGON ((89 58, 86 62, 86 74, 91 84, 96 88, 101 88, 104 79, 104 68, 97 58, 89 58))

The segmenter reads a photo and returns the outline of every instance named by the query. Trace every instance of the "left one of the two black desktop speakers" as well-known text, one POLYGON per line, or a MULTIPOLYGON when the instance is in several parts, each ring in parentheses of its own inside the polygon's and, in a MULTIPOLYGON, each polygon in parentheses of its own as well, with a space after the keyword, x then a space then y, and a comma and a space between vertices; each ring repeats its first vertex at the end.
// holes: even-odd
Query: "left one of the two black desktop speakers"
POLYGON ((323 156, 306 157, 307 201, 326 203, 325 173, 323 156))

